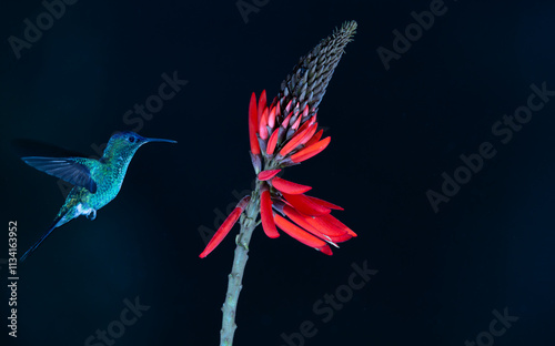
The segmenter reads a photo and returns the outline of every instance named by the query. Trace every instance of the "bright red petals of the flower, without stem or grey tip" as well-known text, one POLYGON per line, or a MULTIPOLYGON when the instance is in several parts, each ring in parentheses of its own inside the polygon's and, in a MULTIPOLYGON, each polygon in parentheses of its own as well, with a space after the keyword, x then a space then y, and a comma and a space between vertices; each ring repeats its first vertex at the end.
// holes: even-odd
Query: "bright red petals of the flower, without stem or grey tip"
MULTIPOLYGON (((266 92, 259 102, 253 93, 249 106, 249 138, 251 159, 258 174, 256 191, 260 196, 261 223, 264 233, 279 237, 276 226, 297 240, 326 255, 332 255, 330 244, 345 242, 356 236, 351 228, 331 215, 332 210, 343 210, 330 202, 307 196, 311 186, 296 184, 276 176, 281 169, 299 164, 319 153, 330 138, 321 140, 322 130, 316 132, 316 113, 310 103, 301 108, 300 102, 290 100, 282 106, 275 98, 266 105, 266 92), (262 163, 264 170, 261 171, 262 163), (289 220, 287 220, 289 218, 289 220)), ((233 227, 239 216, 252 203, 243 199, 220 226, 200 257, 210 254, 233 227)), ((258 202, 258 201, 256 201, 258 202)))

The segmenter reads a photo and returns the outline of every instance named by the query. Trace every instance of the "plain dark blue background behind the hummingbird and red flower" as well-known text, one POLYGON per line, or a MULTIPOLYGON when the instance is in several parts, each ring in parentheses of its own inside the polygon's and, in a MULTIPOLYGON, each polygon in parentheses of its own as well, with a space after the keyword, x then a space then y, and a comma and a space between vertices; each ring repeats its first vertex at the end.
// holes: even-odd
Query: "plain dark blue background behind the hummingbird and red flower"
MULTIPOLYGON (((280 335, 303 320, 319 329, 305 345, 464 345, 505 307, 519 319, 495 345, 553 345, 555 105, 506 145, 491 128, 526 104, 532 83, 555 90, 555 4, 446 1, 386 71, 376 49, 392 49, 392 31, 430 2, 270 0, 245 23, 234 1, 79 1, 17 59, 8 38, 21 38, 23 20, 44 8, 4 1, 1 208, 6 235, 18 221, 21 251, 63 197, 56 179, 11 152, 11 140, 92 155, 91 144, 133 130, 123 114, 157 92, 162 73, 189 84, 140 130, 179 144, 142 147, 94 222, 64 225, 20 264, 18 338, 2 327, 0 339, 83 345, 139 296, 151 308, 115 345, 218 345, 238 228, 205 260, 199 230, 214 230, 214 210, 225 214, 233 191, 254 177, 250 93, 273 98, 301 55, 356 20, 319 112, 331 145, 286 177, 345 207, 334 214, 360 236, 327 257, 256 230, 235 345, 285 345, 280 335), (453 174, 484 141, 496 156, 434 213, 426 191, 441 191, 442 172, 453 174), (323 323, 313 304, 364 261, 379 273, 323 323)), ((7 245, 6 236, 0 257, 7 245)))

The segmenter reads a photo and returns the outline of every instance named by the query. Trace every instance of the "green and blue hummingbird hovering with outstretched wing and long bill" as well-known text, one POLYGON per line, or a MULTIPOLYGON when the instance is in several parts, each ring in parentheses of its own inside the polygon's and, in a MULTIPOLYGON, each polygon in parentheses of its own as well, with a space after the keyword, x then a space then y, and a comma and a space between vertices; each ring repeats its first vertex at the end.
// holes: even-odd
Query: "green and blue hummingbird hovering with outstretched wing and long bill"
POLYGON ((139 134, 124 131, 115 132, 108 142, 102 157, 43 157, 23 156, 21 160, 28 165, 47 174, 59 177, 73 185, 65 197, 65 202, 58 212, 50 227, 21 256, 24 261, 39 245, 54 231, 54 228, 71 220, 85 215, 89 220, 97 217, 97 211, 112 201, 120 192, 129 163, 137 150, 151 142, 178 143, 172 140, 148 139, 139 134))

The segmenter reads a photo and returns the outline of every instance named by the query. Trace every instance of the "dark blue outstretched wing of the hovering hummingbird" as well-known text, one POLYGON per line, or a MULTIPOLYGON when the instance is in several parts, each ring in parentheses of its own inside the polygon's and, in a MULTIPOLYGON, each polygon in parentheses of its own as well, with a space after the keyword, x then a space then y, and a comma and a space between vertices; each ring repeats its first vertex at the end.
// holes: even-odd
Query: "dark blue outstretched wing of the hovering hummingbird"
POLYGON ((91 193, 97 192, 97 183, 92 180, 89 169, 89 166, 98 164, 94 159, 26 156, 21 160, 28 165, 70 184, 84 187, 91 193))

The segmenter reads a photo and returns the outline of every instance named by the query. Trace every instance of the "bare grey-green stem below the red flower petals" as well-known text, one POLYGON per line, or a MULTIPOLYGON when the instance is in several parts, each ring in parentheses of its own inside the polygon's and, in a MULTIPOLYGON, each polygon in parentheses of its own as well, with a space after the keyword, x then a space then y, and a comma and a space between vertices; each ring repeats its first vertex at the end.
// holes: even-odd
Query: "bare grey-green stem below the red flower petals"
POLYGON ((235 334, 236 324, 235 315, 238 309, 239 294, 243 285, 243 273, 249 260, 249 243, 251 242, 252 232, 258 226, 256 217, 260 212, 260 182, 256 190, 251 194, 251 201, 241 215, 241 231, 235 238, 235 256, 233 258, 233 267, 231 274, 228 275, 228 293, 225 302, 222 306, 222 330, 220 330, 220 346, 233 345, 233 335, 235 334))

